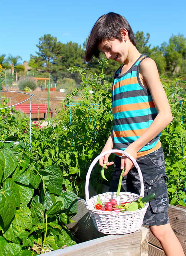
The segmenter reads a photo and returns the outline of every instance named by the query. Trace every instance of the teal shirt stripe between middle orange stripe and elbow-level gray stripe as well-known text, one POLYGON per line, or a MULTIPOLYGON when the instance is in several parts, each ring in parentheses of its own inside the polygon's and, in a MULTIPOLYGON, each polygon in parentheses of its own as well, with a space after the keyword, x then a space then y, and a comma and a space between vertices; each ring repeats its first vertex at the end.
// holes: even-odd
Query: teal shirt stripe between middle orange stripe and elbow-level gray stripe
POLYGON ((157 114, 156 108, 138 109, 132 111, 122 111, 113 114, 113 119, 127 118, 127 117, 140 117, 148 114, 157 114))

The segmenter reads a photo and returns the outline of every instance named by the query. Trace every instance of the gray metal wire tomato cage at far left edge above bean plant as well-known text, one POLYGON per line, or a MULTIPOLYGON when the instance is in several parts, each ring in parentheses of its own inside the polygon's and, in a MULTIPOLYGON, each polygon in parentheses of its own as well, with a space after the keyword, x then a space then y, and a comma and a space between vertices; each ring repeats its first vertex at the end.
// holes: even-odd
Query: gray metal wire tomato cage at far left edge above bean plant
MULTIPOLYGON (((29 94, 27 92, 17 92, 17 91, 7 91, 7 90, 1 90, 0 93, 20 93, 20 94, 24 94, 24 95, 28 95, 28 98, 19 102, 19 103, 16 103, 16 104, 11 104, 11 100, 13 99, 13 97, 9 97, 9 96, 5 96, 5 97, 0 97, 0 103, 1 103, 1 100, 3 100, 3 103, 6 104, 6 107, 2 107, 0 108, 0 110, 3 110, 3 109, 7 109, 7 112, 6 112, 6 119, 8 118, 8 109, 12 108, 12 107, 15 107, 21 103, 24 103, 28 100, 30 100, 30 127, 29 127, 29 150, 31 149, 31 100, 32 100, 32 97, 33 97, 33 94, 29 94), (10 105, 9 105, 10 103, 10 105)), ((11 138, 11 137, 8 137, 8 138, 11 138)), ((13 138, 12 138, 13 139, 13 138)), ((5 141, 0 141, 0 142, 12 142, 13 140, 5 140, 5 141)), ((15 141, 15 143, 18 142, 18 141, 15 141)))

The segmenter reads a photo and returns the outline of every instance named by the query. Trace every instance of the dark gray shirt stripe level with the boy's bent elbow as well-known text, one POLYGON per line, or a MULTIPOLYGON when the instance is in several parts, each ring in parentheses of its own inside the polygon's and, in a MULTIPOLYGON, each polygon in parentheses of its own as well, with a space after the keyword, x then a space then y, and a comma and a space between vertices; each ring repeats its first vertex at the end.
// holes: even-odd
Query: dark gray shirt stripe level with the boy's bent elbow
POLYGON ((145 116, 139 117, 126 117, 126 118, 118 118, 113 119, 113 125, 125 125, 130 123, 143 123, 148 122, 149 120, 154 120, 157 114, 149 114, 145 116))

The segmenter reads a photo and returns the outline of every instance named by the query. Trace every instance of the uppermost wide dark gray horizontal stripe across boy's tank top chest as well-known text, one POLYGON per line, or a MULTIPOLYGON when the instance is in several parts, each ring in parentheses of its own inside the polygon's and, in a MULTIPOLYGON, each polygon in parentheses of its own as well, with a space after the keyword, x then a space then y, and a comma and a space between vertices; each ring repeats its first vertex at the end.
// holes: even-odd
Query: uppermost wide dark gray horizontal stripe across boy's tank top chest
POLYGON ((112 102, 119 100, 119 99, 124 99, 124 98, 130 98, 130 97, 141 97, 141 96, 150 96, 150 91, 147 89, 145 90, 131 90, 128 92, 120 92, 112 96, 112 102))

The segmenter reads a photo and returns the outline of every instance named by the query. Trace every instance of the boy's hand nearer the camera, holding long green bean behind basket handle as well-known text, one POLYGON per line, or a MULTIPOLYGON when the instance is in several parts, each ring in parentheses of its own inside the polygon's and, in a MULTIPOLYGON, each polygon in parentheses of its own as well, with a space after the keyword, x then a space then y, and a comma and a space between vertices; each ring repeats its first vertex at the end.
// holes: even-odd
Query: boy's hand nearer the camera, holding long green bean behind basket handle
MULTIPOLYGON (((125 149, 125 152, 129 153, 130 155, 132 155, 134 157, 134 159, 136 160, 137 152, 136 152, 136 150, 134 148, 132 148, 132 146, 131 147, 130 146, 128 146, 125 149)), ((121 157, 121 170, 123 170, 124 167, 125 167, 125 171, 124 171, 124 173, 122 175, 123 177, 125 175, 127 175, 128 172, 134 167, 133 162, 128 157, 126 157, 126 156, 122 156, 121 157)))

